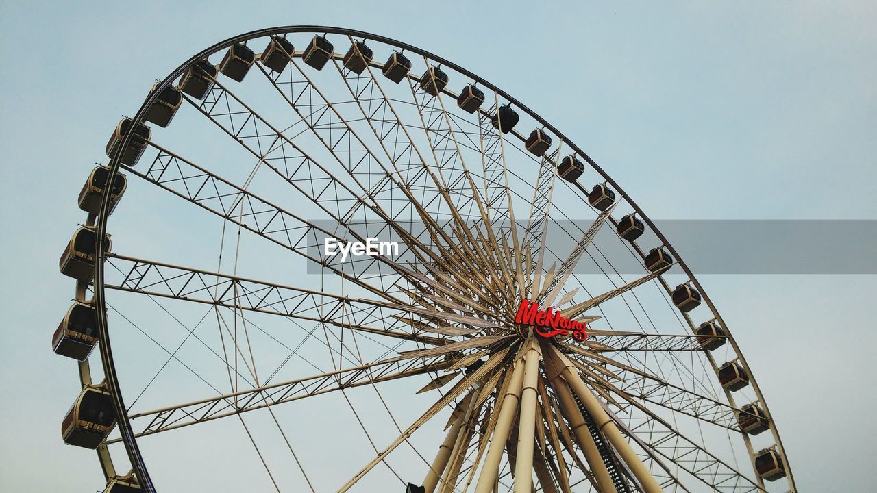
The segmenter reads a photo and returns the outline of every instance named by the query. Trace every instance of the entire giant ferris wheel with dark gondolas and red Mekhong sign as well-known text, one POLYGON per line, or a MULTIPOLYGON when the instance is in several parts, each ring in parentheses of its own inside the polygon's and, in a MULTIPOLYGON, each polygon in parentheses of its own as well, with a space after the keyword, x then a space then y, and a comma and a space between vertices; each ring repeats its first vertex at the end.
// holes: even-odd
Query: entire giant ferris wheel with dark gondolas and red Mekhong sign
POLYGON ((450 61, 248 32, 156 82, 106 156, 53 336, 82 384, 63 439, 105 491, 795 491, 674 247, 450 61))

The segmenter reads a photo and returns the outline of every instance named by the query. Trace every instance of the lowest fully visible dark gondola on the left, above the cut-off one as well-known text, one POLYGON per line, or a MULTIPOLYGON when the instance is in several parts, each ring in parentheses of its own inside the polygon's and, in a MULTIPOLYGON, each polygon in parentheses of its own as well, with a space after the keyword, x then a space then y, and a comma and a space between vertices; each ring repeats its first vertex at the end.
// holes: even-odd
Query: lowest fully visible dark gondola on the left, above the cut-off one
POLYGON ((61 437, 68 445, 94 449, 115 425, 116 412, 110 392, 104 385, 87 385, 61 422, 61 437))

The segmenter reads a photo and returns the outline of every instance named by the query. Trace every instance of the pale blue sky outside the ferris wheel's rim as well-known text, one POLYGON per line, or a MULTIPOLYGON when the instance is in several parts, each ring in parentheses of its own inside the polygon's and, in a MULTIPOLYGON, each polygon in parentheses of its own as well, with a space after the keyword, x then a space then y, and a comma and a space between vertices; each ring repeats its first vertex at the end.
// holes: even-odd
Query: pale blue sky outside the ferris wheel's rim
MULTIPOLYGON (((0 489, 103 488, 93 454, 61 442, 77 382, 49 345, 72 293, 57 259, 111 127, 204 46, 273 25, 383 34, 541 113, 652 218, 877 219, 875 14, 856 2, 0 2, 0 489)), ((701 282, 799 487, 872 490, 877 279, 701 282)))

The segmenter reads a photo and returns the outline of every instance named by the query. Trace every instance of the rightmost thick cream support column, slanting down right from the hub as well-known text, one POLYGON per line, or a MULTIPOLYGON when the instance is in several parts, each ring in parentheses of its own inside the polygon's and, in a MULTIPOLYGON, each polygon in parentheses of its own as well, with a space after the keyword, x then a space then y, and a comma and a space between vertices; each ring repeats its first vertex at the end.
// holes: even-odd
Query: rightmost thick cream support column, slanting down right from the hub
POLYGON ((637 478, 639 484, 643 487, 645 493, 662 493, 660 485, 655 481, 652 473, 649 472, 642 461, 639 460, 636 452, 633 451, 631 444, 627 443, 617 426, 610 418, 609 414, 603 410, 600 401, 594 396, 585 382, 581 380, 578 371, 575 369, 573 362, 569 358, 553 346, 550 346, 548 357, 552 358, 557 368, 560 370, 560 376, 567 381, 576 395, 579 396, 581 404, 584 404, 585 410, 594 418, 597 427, 603 432, 603 435, 610 441, 613 447, 618 451, 618 455, 631 469, 633 475, 637 478))

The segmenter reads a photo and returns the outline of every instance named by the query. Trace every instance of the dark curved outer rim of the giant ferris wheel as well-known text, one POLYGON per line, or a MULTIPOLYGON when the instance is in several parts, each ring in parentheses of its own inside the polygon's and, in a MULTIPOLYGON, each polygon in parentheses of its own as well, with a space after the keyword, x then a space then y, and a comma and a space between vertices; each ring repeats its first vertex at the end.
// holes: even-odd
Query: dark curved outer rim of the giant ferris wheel
MULTIPOLYGON (((726 335, 727 339, 731 342, 731 347, 734 349, 734 353, 737 354, 738 361, 743 365, 743 367, 745 368, 746 372, 749 375, 749 378, 750 378, 750 381, 752 384, 752 389, 754 390, 755 395, 758 398, 759 404, 761 404, 763 410, 766 412, 766 417, 770 419, 770 423, 771 423, 770 429, 774 435, 775 445, 776 445, 778 451, 780 452, 781 461, 783 461, 783 463, 785 465, 785 470, 788 474, 788 482, 789 482, 791 488, 793 489, 793 491, 796 490, 794 476, 793 476, 791 468, 788 465, 788 458, 787 458, 787 455, 786 455, 784 448, 782 446, 781 437, 779 435, 779 432, 776 429, 775 421, 774 421, 773 416, 767 407, 766 399, 763 396, 763 394, 761 393, 761 390, 759 389, 759 385, 756 382, 752 371, 750 370, 748 364, 745 361, 744 354, 742 353, 742 351, 740 351, 738 344, 737 344, 737 341, 733 338, 730 329, 728 329, 728 326, 724 323, 724 319, 722 318, 721 314, 718 312, 717 307, 712 302, 712 300, 709 298, 709 295, 706 293, 706 291, 702 288, 702 284, 700 282, 698 282, 693 271, 690 268, 688 268, 688 265, 681 258, 681 255, 678 254, 678 252, 673 247, 673 245, 670 243, 670 241, 666 238, 666 236, 662 232, 660 232, 660 230, 652 222, 652 219, 648 217, 648 215, 645 213, 645 211, 643 211, 643 209, 641 207, 639 207, 639 205, 631 198, 630 195, 628 195, 627 193, 624 192, 624 189, 621 187, 621 185, 618 184, 592 158, 590 158, 588 156, 588 154, 585 153, 581 149, 580 146, 577 146, 572 139, 569 139, 567 137, 567 135, 565 135, 563 132, 560 132, 560 130, 557 127, 555 127, 554 125, 549 123, 547 120, 545 120, 545 118, 542 118, 536 111, 531 110, 530 107, 521 103, 520 100, 518 100, 514 96, 511 96, 509 93, 507 93, 503 89, 499 88, 495 84, 483 79, 481 76, 474 74, 473 72, 467 70, 466 68, 460 67, 460 65, 457 65, 453 61, 446 60, 445 58, 443 58, 437 54, 433 54, 427 50, 424 50, 423 48, 413 46, 413 45, 410 45, 408 43, 404 43, 402 41, 399 41, 397 39, 389 38, 387 36, 382 36, 382 35, 374 34, 371 32, 364 32, 364 31, 359 31, 359 30, 354 30, 354 29, 347 29, 347 28, 326 26, 326 25, 284 25, 284 26, 277 26, 277 27, 255 30, 255 31, 251 31, 251 32, 245 32, 245 33, 242 33, 242 34, 239 34, 236 36, 232 36, 231 38, 217 42, 216 44, 214 44, 208 48, 203 49, 198 54, 191 56, 187 61, 183 62, 180 66, 175 68, 168 76, 166 76, 163 80, 161 80, 156 85, 154 90, 146 97, 146 99, 144 100, 144 103, 141 104, 141 106, 139 107, 139 110, 132 117, 132 121, 134 123, 142 123, 144 118, 145 118, 145 115, 146 115, 146 110, 149 108, 149 106, 151 104, 153 104, 153 102, 158 98, 158 96, 160 96, 161 91, 163 89, 168 88, 180 75, 182 75, 182 73, 187 68, 189 68, 196 61, 206 59, 207 57, 209 57, 212 54, 216 54, 223 49, 226 49, 230 46, 233 46, 233 45, 241 43, 241 42, 246 42, 250 39, 258 39, 258 38, 263 38, 263 37, 270 36, 270 35, 280 35, 280 34, 300 33, 300 32, 313 32, 313 33, 326 33, 326 34, 331 33, 331 34, 351 36, 351 37, 355 37, 355 38, 369 39, 369 40, 373 40, 373 41, 376 41, 379 43, 383 43, 385 45, 395 46, 396 48, 399 48, 402 50, 407 50, 407 51, 422 55, 422 56, 426 57, 427 59, 429 59, 430 61, 435 61, 435 62, 439 63, 439 65, 453 68, 454 71, 460 73, 461 75, 466 75, 467 77, 473 79, 475 82, 481 84, 482 86, 487 87, 487 88, 495 91, 497 95, 503 96, 511 105, 515 106, 517 109, 520 109, 521 111, 524 111, 528 116, 530 116, 531 118, 536 120, 545 129, 548 129, 549 131, 553 132, 553 134, 556 135, 563 143, 570 146, 574 150, 575 154, 580 155, 585 161, 587 161, 588 165, 590 165, 591 168, 593 168, 599 175, 601 175, 602 178, 606 182, 610 183, 612 185, 612 187, 614 187, 618 191, 618 193, 624 197, 624 202, 626 202, 627 204, 629 204, 631 206, 631 209, 633 211, 635 211, 640 218, 642 218, 642 220, 645 222, 645 224, 649 226, 650 230, 660 240, 660 242, 662 243, 662 246, 666 247, 667 250, 669 251, 669 253, 674 256, 676 263, 679 264, 680 268, 683 270, 685 275, 688 276, 688 279, 690 280, 690 282, 692 284, 694 284, 695 287, 699 290, 700 294, 702 295, 702 299, 709 307, 709 310, 713 313, 713 315, 719 321, 719 323, 724 327, 725 335, 726 335)), ((129 132, 127 135, 125 135, 124 139, 122 139, 120 148, 125 148, 125 146, 128 146, 129 142, 132 140, 132 136, 133 136, 133 132, 129 132)), ((110 174, 107 178, 108 183, 112 182, 115 179, 115 177, 118 175, 118 168, 120 167, 120 161, 121 161, 121 153, 118 153, 109 162, 108 167, 110 168, 110 174)), ((125 444, 125 451, 128 455, 129 460, 132 463, 132 472, 134 472, 137 475, 137 477, 140 481, 140 485, 142 488, 144 488, 145 491, 147 491, 149 493, 154 493, 156 491, 156 489, 153 485, 153 482, 151 481, 151 477, 149 475, 148 469, 146 468, 146 463, 142 457, 142 454, 139 451, 139 445, 137 443, 137 439, 134 436, 135 434, 132 430, 132 426, 131 426, 130 421, 128 419, 127 409, 125 408, 125 403, 124 403, 122 393, 121 393, 121 386, 119 385, 119 382, 118 382, 118 375, 116 373, 116 368, 115 368, 115 364, 113 361, 110 333, 109 333, 109 328, 108 328, 107 318, 106 318, 106 305, 104 303, 105 294, 104 294, 103 264, 104 264, 104 261, 106 260, 107 253, 103 249, 103 240, 104 240, 105 234, 107 232, 107 222, 108 222, 108 216, 109 216, 108 212, 111 211, 110 197, 111 197, 111 194, 103 194, 103 198, 102 198, 101 205, 100 205, 100 212, 97 214, 96 224, 95 224, 97 245, 96 245, 95 276, 94 276, 94 283, 93 283, 93 289, 94 289, 93 301, 94 301, 96 307, 98 308, 98 310, 96 310, 96 325, 97 325, 96 328, 98 331, 98 338, 100 340, 100 343, 99 343, 100 355, 101 355, 101 361, 102 361, 102 365, 103 365, 103 373, 104 373, 105 383, 107 385, 107 389, 109 390, 109 392, 111 394, 112 402, 113 402, 115 411, 117 413, 117 424, 119 426, 119 430, 120 430, 121 435, 122 435, 121 441, 123 441, 123 443, 125 444)), ((686 318, 687 318, 687 316, 686 316, 686 318)), ((690 321, 689 321, 689 323, 690 323, 690 321)), ((709 352, 707 352, 707 356, 709 358, 709 361, 713 362, 712 356, 709 354, 709 352)), ((713 367, 714 367, 713 368, 714 370, 717 369, 715 362, 713 362, 713 367)), ((729 394, 729 392, 727 390, 725 390, 725 393, 729 394)), ((746 439, 746 443, 747 443, 747 447, 750 448, 750 452, 752 452, 751 446, 749 446, 749 444, 748 444, 748 439, 746 439)), ((103 461, 103 458, 101 460, 103 461)), ((754 459, 753 459, 753 461, 754 461, 754 459)))

